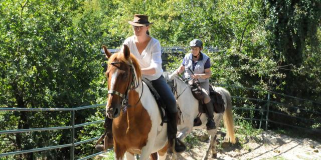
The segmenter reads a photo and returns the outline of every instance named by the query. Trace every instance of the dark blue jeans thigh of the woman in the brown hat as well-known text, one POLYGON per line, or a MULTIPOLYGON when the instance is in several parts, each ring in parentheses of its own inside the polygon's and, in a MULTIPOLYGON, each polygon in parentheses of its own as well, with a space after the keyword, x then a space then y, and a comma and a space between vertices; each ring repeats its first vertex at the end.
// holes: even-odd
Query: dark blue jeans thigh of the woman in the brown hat
POLYGON ((161 96, 162 101, 166 105, 166 112, 176 113, 176 99, 164 76, 161 75, 158 79, 152 80, 151 84, 157 90, 159 96, 161 96))

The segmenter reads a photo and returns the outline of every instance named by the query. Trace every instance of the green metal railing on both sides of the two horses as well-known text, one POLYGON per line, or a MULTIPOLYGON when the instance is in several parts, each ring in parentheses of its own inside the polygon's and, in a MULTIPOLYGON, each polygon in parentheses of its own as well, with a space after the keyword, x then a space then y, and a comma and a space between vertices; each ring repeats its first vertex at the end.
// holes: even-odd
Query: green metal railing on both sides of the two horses
MULTIPOLYGON (((279 95, 279 96, 290 97, 290 98, 296 98, 296 99, 299 99, 299 100, 307 100, 307 99, 297 98, 297 97, 293 97, 293 96, 290 96, 290 95, 280 94, 280 93, 276 93, 276 92, 269 91, 269 90, 263 90, 263 89, 246 88, 246 87, 234 86, 234 85, 226 85, 226 84, 215 84, 215 85, 229 87, 229 88, 240 88, 240 89, 246 89, 246 90, 251 90, 251 91, 264 91, 265 92, 265 94, 266 94, 265 98, 261 98, 261 99, 259 99, 259 98, 250 98, 250 97, 242 97, 242 96, 231 96, 232 100, 240 99, 240 100, 249 100, 249 101, 256 101, 256 102, 264 103, 263 105, 260 105, 260 108, 249 108, 249 107, 233 106, 233 108, 237 109, 237 110, 241 109, 244 112, 246 110, 258 111, 261 114, 260 118, 238 116, 238 117, 234 117, 235 119, 246 119, 246 120, 252 120, 252 121, 253 120, 259 121, 259 128, 261 128, 262 127, 262 123, 265 122, 265 129, 268 129, 269 123, 275 123, 275 124, 285 125, 285 126, 289 126, 289 127, 295 127, 295 128, 300 128, 300 129, 310 129, 312 131, 321 132, 321 129, 307 128, 307 127, 302 127, 302 126, 298 126, 298 125, 291 125, 291 124, 287 124, 287 123, 284 123, 284 122, 279 122, 279 121, 273 120, 273 119, 271 119, 269 117, 269 115, 271 113, 271 114, 278 114, 278 115, 282 115, 282 116, 297 118, 297 119, 301 119, 301 120, 304 120, 304 121, 321 123, 320 120, 313 120, 313 119, 308 119, 308 118, 304 118, 304 117, 285 114, 285 113, 282 113, 282 112, 280 112, 278 110, 272 110, 272 107, 271 107, 274 104, 275 105, 281 105, 281 106, 286 107, 286 108, 304 110, 306 112, 309 112, 311 114, 316 114, 316 115, 319 115, 319 117, 321 117, 321 112, 319 112, 319 111, 310 110, 310 109, 302 108, 302 107, 299 107, 299 106, 287 106, 287 104, 285 104, 285 103, 273 101, 273 100, 271 100, 271 94, 276 94, 276 95, 279 95), (265 116, 264 116, 264 113, 265 113, 265 116)), ((231 91, 232 89, 229 89, 229 90, 231 91)), ((308 101, 310 101, 312 103, 315 103, 315 104, 318 104, 318 105, 321 106, 321 103, 319 103, 319 102, 311 101, 311 100, 308 100, 308 101)), ((72 160, 75 159, 74 150, 75 150, 75 146, 76 145, 87 143, 87 142, 91 142, 91 141, 97 140, 99 138, 99 137, 93 137, 93 138, 90 138, 90 139, 87 139, 87 140, 75 142, 75 128, 78 128, 78 127, 81 127, 81 126, 85 126, 85 125, 89 125, 89 124, 102 123, 104 121, 104 119, 101 119, 101 120, 82 123, 82 124, 75 124, 75 111, 76 110, 87 109, 87 108, 95 108, 95 107, 99 107, 99 106, 103 106, 103 105, 106 105, 106 104, 96 104, 96 105, 82 106, 82 107, 76 107, 76 108, 0 108, 0 111, 70 111, 71 112, 71 116, 70 116, 71 124, 69 126, 57 126, 57 127, 47 127, 47 128, 30 128, 30 129, 16 129, 16 130, 1 130, 0 131, 0 134, 8 134, 8 133, 21 133, 21 132, 31 132, 31 131, 71 129, 71 142, 70 143, 62 144, 62 145, 55 145, 55 146, 42 147, 42 148, 34 148, 34 149, 29 149, 29 150, 21 150, 21 151, 0 153, 0 157, 8 156, 8 155, 15 155, 15 154, 28 153, 28 152, 36 152, 36 151, 57 149, 57 148, 63 148, 63 147, 70 147, 70 159, 72 159, 72 160)), ((111 150, 111 149, 108 149, 107 151, 109 151, 109 150, 111 150)), ((82 158, 80 158, 78 160, 88 159, 88 158, 94 157, 96 155, 99 155, 101 153, 103 153, 103 152, 97 152, 97 153, 82 157, 82 158)))

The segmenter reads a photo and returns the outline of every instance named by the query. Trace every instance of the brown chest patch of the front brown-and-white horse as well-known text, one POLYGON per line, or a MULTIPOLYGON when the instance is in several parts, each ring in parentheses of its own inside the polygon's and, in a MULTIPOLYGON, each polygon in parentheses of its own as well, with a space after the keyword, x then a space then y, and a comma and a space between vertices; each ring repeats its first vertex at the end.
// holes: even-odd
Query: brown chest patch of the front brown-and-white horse
POLYGON ((140 102, 137 103, 139 94, 131 90, 128 97, 131 107, 113 120, 114 144, 116 144, 114 151, 117 156, 123 155, 127 149, 141 149, 145 146, 151 129, 148 112, 140 102))

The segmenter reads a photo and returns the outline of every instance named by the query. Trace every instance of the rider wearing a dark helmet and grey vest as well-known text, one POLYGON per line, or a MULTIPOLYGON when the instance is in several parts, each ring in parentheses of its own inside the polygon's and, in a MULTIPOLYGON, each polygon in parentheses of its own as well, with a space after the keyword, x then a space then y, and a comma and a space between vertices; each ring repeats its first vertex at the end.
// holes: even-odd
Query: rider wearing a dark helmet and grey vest
POLYGON ((204 106, 207 115, 206 127, 208 130, 215 129, 214 122, 214 106, 209 96, 209 78, 211 76, 211 61, 210 57, 202 53, 203 42, 200 39, 193 39, 190 42, 191 53, 185 55, 180 67, 176 69, 176 73, 180 74, 183 71, 184 78, 194 78, 200 82, 204 94, 204 106))

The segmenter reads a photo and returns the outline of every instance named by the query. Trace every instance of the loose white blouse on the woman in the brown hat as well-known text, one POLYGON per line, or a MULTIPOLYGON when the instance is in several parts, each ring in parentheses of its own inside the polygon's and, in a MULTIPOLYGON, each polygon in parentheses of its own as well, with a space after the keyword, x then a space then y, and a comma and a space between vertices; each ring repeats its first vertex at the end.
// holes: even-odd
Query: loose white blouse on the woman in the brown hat
MULTIPOLYGON (((149 40, 145 49, 139 54, 136 43, 135 43, 135 35, 132 35, 125 39, 124 43, 129 47, 130 52, 135 55, 140 65, 140 68, 146 68, 152 66, 155 68, 155 74, 147 75, 143 74, 142 76, 149 79, 155 80, 159 78, 163 73, 162 68, 162 52, 161 52, 161 44, 159 41, 153 37, 149 40)), ((123 50, 123 46, 121 46, 121 50, 123 50)))

